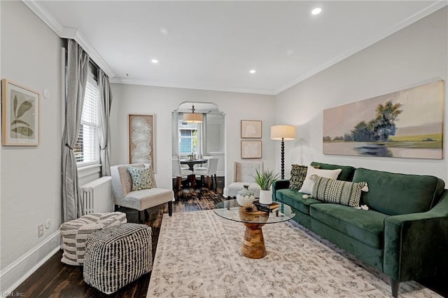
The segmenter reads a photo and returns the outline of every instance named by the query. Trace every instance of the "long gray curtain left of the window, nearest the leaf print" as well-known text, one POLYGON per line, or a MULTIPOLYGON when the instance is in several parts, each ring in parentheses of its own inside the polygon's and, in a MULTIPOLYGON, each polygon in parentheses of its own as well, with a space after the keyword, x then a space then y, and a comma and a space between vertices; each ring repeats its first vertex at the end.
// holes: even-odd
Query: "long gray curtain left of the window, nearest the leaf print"
POLYGON ((65 127, 62 137, 62 222, 83 214, 78 169, 73 152, 83 113, 89 55, 76 41, 68 40, 66 68, 65 127))

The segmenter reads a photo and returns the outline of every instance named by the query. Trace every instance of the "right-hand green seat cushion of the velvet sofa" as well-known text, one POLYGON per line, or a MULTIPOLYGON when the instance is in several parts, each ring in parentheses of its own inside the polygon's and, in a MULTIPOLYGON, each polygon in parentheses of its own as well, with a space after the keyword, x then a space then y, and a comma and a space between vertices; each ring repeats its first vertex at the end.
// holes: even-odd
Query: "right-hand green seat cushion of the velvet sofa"
POLYGON ((384 247, 384 219, 388 215, 329 203, 312 204, 309 214, 319 222, 372 248, 384 247))

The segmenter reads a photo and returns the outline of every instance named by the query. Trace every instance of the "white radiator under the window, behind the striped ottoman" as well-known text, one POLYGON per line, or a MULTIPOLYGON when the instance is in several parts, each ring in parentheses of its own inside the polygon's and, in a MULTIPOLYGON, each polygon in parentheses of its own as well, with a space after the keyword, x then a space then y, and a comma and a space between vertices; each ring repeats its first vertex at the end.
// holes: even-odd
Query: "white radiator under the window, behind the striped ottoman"
POLYGON ((83 215, 93 212, 113 212, 111 176, 101 177, 80 187, 83 215))

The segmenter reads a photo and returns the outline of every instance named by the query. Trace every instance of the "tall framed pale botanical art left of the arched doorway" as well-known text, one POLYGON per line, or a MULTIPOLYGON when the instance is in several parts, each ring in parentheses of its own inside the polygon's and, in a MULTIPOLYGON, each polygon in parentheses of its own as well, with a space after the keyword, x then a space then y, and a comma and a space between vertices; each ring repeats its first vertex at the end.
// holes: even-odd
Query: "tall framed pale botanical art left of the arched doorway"
POLYGON ((154 115, 129 114, 129 162, 154 164, 154 115))

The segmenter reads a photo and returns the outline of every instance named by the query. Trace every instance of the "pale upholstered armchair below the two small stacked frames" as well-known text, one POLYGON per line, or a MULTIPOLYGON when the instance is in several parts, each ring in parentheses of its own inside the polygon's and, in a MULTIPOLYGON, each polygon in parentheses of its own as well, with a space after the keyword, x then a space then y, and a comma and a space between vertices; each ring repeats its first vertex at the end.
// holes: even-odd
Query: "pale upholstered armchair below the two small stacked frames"
POLYGON ((248 185, 253 191, 255 198, 260 198, 260 186, 253 180, 255 170, 263 171, 262 161, 235 161, 233 164, 233 182, 225 187, 224 196, 228 198, 236 197, 238 191, 244 189, 243 185, 248 185))

